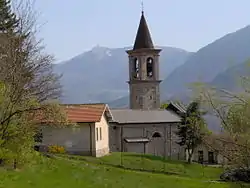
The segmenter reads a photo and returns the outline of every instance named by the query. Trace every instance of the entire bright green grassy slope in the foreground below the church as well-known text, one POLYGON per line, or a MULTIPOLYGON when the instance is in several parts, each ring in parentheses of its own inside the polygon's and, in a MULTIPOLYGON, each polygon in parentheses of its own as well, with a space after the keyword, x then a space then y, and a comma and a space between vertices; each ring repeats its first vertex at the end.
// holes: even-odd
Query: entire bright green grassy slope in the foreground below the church
MULTIPOLYGON (((152 156, 119 153, 103 158, 60 156, 42 158, 19 171, 0 171, 0 188, 231 188, 222 182, 222 169, 165 161, 152 156), (121 167, 121 161, 123 166, 121 167), (130 170, 128 170, 130 169, 130 170), (154 169, 155 172, 149 172, 154 169), (140 171, 141 170, 141 171, 140 171), (145 170, 145 171, 144 171, 145 170), (148 171, 148 172, 147 172, 148 171), (165 173, 165 174, 164 174, 165 173)), ((240 186, 239 186, 240 187, 240 186)))

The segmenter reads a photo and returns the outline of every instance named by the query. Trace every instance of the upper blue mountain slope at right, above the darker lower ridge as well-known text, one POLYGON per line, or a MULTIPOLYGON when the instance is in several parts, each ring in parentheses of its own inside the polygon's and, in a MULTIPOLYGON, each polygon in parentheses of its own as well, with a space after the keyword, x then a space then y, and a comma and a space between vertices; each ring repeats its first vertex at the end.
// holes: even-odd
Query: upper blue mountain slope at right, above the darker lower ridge
MULTIPOLYGON (((176 68, 161 84, 163 98, 182 98, 187 95, 190 83, 212 82, 230 67, 250 58, 250 26, 230 33, 193 54, 176 68)), ((225 73, 227 74, 227 73, 225 73)), ((223 79, 218 77, 216 82, 223 79)))

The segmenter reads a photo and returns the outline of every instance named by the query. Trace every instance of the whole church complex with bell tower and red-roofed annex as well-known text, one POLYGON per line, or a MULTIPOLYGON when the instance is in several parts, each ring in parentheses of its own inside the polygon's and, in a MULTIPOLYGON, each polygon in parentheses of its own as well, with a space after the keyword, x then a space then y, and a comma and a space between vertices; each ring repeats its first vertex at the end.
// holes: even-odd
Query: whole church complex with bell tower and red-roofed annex
MULTIPOLYGON (((130 93, 128 109, 110 109, 107 104, 63 105, 67 118, 78 126, 43 126, 42 145, 60 145, 72 154, 100 157, 110 152, 135 152, 184 159, 176 144, 181 117, 176 110, 160 109, 159 56, 144 12, 134 46, 128 54, 130 93)), ((124 80, 125 82, 125 80, 124 80)))

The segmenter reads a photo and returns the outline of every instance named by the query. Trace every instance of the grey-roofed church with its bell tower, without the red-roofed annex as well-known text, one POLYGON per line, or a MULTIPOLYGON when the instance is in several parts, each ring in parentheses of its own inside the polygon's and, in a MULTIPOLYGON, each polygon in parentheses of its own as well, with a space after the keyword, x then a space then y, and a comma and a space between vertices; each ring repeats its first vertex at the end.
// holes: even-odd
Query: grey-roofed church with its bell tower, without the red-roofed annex
POLYGON ((110 150, 180 158, 176 144, 180 117, 160 109, 159 56, 142 11, 133 49, 128 50, 129 109, 111 109, 110 150))

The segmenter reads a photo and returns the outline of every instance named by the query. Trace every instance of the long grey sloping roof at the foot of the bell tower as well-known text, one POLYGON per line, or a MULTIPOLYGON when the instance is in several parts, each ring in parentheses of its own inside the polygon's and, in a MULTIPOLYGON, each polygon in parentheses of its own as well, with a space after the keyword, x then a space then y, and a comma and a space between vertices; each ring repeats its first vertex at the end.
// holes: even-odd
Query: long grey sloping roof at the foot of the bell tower
POLYGON ((178 123, 180 116, 168 110, 111 109, 117 123, 178 123))

